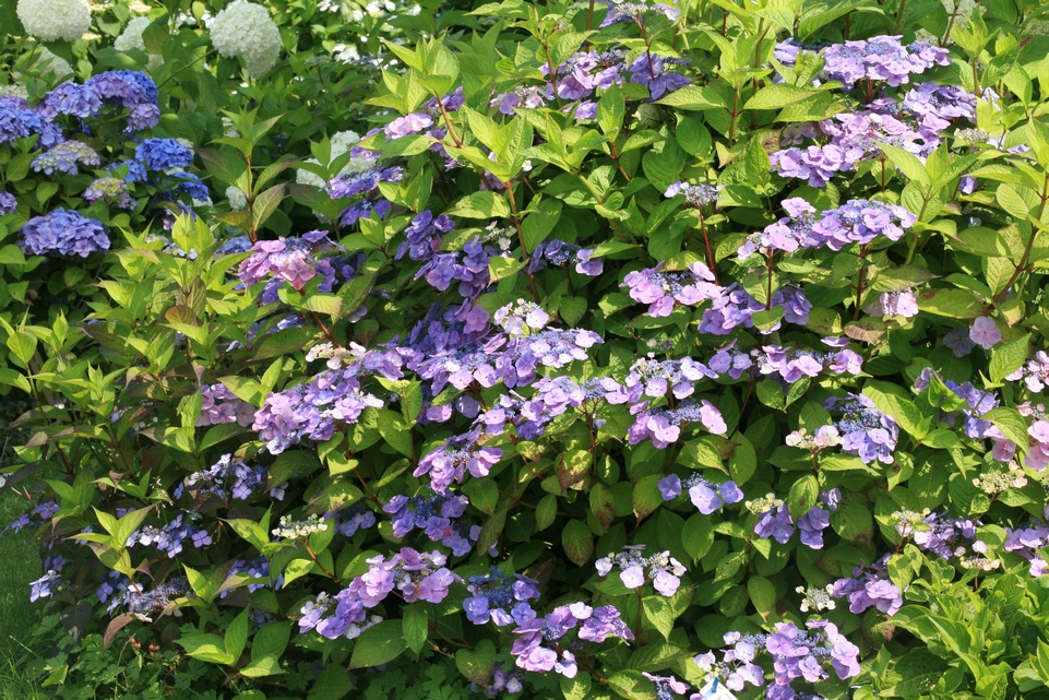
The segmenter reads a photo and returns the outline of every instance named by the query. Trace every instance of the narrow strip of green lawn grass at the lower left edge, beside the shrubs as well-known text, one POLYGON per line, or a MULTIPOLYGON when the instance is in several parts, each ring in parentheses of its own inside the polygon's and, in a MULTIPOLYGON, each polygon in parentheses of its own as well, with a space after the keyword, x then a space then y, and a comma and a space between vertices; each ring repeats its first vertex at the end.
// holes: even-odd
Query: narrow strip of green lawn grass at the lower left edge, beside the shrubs
MULTIPOLYGON (((0 530, 26 510, 25 501, 10 490, 0 491, 0 530)), ((29 603, 29 582, 40 577, 40 557, 32 532, 9 532, 0 537, 0 700, 35 696, 26 678, 26 646, 40 608, 29 603)))

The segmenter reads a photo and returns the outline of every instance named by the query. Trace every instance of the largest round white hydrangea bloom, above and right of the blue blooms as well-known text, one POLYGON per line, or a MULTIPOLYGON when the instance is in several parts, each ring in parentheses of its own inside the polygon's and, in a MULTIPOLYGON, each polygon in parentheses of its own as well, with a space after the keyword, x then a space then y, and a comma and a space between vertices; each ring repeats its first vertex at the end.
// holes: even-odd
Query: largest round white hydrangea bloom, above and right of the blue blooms
POLYGON ((277 62, 281 32, 261 4, 238 0, 215 15, 212 44, 226 58, 240 58, 248 74, 259 78, 277 62))

